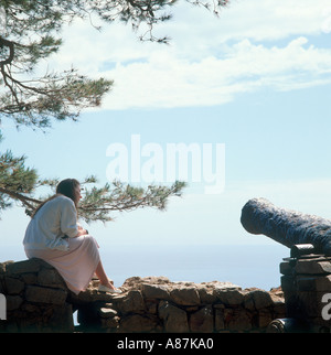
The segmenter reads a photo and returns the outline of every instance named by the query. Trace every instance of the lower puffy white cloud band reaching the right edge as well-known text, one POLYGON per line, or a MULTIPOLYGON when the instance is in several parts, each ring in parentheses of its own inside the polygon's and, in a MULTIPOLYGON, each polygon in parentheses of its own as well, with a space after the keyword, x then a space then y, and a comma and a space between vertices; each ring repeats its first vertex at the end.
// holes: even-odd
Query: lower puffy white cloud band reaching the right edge
POLYGON ((331 51, 298 37, 284 47, 267 47, 244 40, 224 53, 199 62, 179 58, 171 51, 153 53, 145 62, 104 73, 116 86, 105 108, 220 105, 235 94, 271 87, 296 89, 330 83, 331 51))

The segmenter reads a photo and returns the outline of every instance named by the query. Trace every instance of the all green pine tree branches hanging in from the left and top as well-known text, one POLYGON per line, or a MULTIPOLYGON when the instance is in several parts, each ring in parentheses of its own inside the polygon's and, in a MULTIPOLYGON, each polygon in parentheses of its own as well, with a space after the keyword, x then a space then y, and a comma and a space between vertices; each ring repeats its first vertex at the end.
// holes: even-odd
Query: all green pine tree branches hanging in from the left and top
MULTIPOLYGON (((185 0, 194 6, 212 9, 217 14, 227 0, 185 0)), ((147 31, 141 41, 167 43, 169 39, 156 37, 153 26, 171 19, 164 13, 178 0, 0 0, 0 129, 3 120, 13 120, 17 127, 46 129, 52 120, 76 120, 87 107, 102 104, 111 89, 113 80, 90 79, 77 69, 63 73, 47 72, 41 77, 32 73, 42 60, 56 53, 62 44, 60 31, 77 18, 96 17, 106 23, 116 20, 130 23, 137 31, 141 23, 147 31)), ((93 21, 90 21, 93 22, 93 21)), ((1 144, 1 130, 0 130, 1 144)), ((0 146, 1 147, 1 146, 0 146)), ((44 180, 34 169, 25 166, 25 157, 12 152, 0 153, 0 212, 13 201, 25 207, 30 215, 42 202, 34 195, 38 187, 56 184, 44 180)), ((83 184, 96 183, 95 176, 83 184)), ((131 211, 139 207, 163 209, 169 196, 180 195, 185 186, 174 182, 172 186, 140 189, 115 181, 103 187, 86 190, 81 202, 81 216, 85 220, 109 220, 113 211, 131 211)))

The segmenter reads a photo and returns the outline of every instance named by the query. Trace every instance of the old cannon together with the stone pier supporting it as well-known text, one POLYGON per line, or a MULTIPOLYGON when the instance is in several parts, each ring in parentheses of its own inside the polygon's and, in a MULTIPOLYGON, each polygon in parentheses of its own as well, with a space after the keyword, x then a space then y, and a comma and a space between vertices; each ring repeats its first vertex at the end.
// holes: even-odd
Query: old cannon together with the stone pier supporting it
POLYGON ((287 318, 274 320, 267 332, 330 333, 331 303, 324 297, 331 298, 331 220, 253 198, 243 207, 241 222, 248 233, 290 248, 290 257, 280 263, 287 318))

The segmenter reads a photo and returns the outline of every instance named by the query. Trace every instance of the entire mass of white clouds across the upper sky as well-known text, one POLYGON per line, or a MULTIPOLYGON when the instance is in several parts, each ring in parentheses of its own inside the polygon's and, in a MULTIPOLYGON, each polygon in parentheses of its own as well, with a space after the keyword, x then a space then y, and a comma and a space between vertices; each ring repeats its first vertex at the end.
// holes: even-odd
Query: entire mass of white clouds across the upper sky
POLYGON ((121 24, 99 33, 77 22, 53 64, 115 79, 104 109, 221 105, 264 87, 328 84, 331 50, 309 37, 325 33, 328 2, 237 0, 216 19, 182 1, 156 30, 170 46, 140 43, 121 24))

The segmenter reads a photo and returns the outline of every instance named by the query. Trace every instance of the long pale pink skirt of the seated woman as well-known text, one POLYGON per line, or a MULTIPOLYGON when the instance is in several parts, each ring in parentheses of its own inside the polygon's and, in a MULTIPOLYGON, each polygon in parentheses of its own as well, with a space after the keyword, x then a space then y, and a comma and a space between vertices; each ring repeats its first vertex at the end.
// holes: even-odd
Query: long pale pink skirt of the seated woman
POLYGON ((67 238, 70 249, 30 250, 25 249, 26 257, 43 259, 52 265, 66 282, 70 290, 78 294, 85 291, 100 261, 98 244, 89 235, 67 238))

